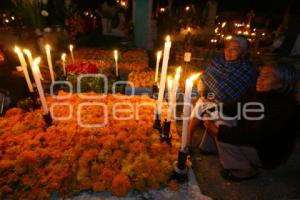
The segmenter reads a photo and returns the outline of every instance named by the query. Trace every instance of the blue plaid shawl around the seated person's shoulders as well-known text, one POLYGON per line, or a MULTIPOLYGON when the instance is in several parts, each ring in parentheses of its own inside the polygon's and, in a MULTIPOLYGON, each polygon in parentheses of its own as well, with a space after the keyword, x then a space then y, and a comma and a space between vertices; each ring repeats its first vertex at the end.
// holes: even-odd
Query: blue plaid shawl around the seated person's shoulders
POLYGON ((232 103, 255 87, 256 75, 256 70, 247 60, 228 62, 219 56, 211 61, 201 78, 218 101, 232 103))

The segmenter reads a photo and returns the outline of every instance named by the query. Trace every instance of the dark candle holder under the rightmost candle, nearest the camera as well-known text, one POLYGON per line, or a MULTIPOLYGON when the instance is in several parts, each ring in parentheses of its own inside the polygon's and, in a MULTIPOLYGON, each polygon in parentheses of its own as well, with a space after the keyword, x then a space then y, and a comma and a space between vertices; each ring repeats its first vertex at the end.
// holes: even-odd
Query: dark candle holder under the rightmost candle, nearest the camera
POLYGON ((177 180, 180 183, 188 181, 188 168, 186 166, 187 157, 188 150, 178 151, 178 161, 175 163, 171 180, 177 180))

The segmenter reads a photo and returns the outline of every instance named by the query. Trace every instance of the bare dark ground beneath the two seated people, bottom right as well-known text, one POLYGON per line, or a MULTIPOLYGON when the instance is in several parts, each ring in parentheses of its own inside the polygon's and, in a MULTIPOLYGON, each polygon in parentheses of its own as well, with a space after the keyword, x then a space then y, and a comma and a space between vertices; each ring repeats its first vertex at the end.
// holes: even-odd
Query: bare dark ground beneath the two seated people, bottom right
POLYGON ((217 156, 200 155, 194 136, 193 169, 203 194, 215 200, 300 200, 300 140, 293 155, 282 167, 259 171, 255 179, 231 183, 224 180, 217 156))

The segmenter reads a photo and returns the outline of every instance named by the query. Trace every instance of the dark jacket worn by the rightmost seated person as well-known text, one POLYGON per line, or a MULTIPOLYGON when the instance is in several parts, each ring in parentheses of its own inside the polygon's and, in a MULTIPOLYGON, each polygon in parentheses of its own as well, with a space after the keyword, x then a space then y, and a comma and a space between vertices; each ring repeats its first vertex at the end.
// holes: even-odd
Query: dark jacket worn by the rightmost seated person
MULTIPOLYGON (((255 94, 247 102, 250 101, 264 105, 264 118, 242 119, 233 128, 220 126, 218 140, 254 147, 265 168, 278 167, 292 153, 298 136, 298 108, 294 96, 274 92, 255 94)), ((257 117, 261 113, 251 115, 257 117)))

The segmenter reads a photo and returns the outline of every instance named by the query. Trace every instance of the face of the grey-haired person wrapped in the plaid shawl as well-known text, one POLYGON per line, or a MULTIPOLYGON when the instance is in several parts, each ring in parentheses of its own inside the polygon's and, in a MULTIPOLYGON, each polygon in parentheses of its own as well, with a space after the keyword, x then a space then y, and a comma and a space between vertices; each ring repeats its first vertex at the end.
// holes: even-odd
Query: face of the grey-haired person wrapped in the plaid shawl
POLYGON ((240 43, 236 40, 231 40, 225 44, 224 57, 226 61, 238 60, 242 55, 240 43))

